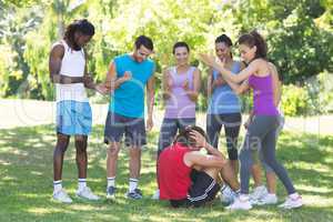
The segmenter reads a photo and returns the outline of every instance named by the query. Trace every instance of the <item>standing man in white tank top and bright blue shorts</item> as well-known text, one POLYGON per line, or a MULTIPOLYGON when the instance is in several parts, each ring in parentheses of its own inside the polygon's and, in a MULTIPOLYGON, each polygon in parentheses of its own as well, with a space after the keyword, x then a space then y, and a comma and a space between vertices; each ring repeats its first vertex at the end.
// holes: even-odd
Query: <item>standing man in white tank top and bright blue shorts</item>
POLYGON ((91 131, 91 108, 85 88, 105 93, 102 84, 94 84, 87 74, 83 47, 94 34, 94 27, 85 19, 68 26, 63 40, 53 44, 49 70, 57 91, 57 145, 53 152, 53 199, 71 203, 62 189, 63 155, 71 135, 75 138, 79 184, 77 196, 99 200, 87 186, 87 140, 91 131))

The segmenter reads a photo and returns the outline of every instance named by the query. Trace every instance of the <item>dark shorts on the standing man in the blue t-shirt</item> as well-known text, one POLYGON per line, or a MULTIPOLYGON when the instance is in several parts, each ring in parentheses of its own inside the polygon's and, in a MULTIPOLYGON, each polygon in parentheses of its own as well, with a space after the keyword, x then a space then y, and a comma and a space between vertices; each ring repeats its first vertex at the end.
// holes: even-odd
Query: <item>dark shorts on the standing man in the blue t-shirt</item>
POLYGON ((108 112, 104 142, 121 142, 125 135, 125 145, 141 147, 147 144, 145 125, 143 118, 129 118, 113 112, 108 112))

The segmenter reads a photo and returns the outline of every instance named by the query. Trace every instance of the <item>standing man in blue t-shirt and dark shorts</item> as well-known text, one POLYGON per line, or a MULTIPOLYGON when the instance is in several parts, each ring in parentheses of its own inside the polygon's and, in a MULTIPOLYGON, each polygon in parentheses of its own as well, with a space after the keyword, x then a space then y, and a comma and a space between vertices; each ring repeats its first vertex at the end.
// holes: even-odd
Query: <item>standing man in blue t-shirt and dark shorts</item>
POLYGON ((107 198, 115 194, 115 170, 120 142, 125 135, 130 147, 130 181, 127 198, 141 199, 138 189, 141 167, 141 147, 145 142, 144 88, 147 88, 147 130, 153 127, 152 110, 154 103, 154 62, 149 58, 153 52, 153 42, 145 36, 135 40, 132 53, 115 57, 107 74, 107 87, 111 100, 105 122, 104 142, 109 144, 107 159, 107 198))

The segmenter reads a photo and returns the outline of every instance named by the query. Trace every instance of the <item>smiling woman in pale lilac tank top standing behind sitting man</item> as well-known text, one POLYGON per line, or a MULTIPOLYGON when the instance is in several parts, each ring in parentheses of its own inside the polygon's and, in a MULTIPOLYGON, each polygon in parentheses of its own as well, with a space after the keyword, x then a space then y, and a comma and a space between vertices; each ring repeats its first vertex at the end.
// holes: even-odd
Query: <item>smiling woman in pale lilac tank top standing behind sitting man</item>
MULTIPOLYGON (((172 52, 175 65, 164 70, 162 80, 165 113, 160 130, 158 157, 172 143, 178 131, 195 124, 200 71, 190 65, 190 48, 185 42, 176 42, 172 52)), ((159 198, 159 190, 154 198, 159 198)))

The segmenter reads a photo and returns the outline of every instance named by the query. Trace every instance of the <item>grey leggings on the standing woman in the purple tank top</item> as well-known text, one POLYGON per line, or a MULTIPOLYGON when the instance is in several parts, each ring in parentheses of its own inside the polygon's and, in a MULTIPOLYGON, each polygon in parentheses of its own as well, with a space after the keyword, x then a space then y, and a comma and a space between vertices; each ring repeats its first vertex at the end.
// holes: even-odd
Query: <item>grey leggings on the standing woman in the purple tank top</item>
POLYGON ((241 193, 249 193, 250 171, 253 165, 251 157, 255 150, 262 151, 265 163, 273 169, 278 178, 282 181, 289 194, 294 193, 295 189, 292 184, 287 172, 276 161, 276 128, 279 125, 279 117, 274 115, 256 115, 248 129, 245 141, 240 153, 241 161, 241 193))

